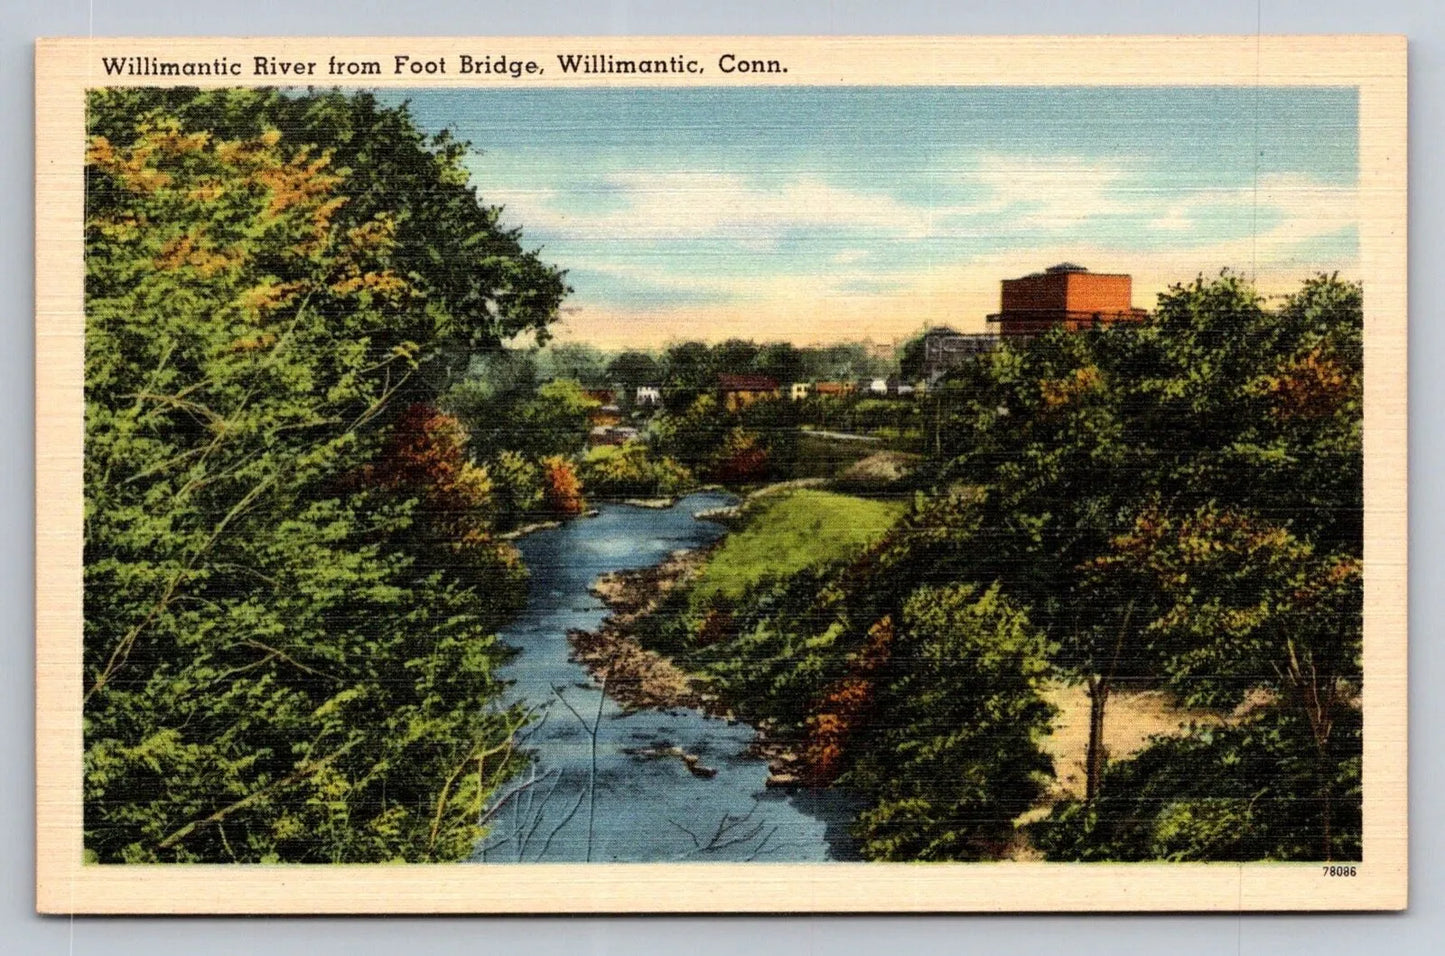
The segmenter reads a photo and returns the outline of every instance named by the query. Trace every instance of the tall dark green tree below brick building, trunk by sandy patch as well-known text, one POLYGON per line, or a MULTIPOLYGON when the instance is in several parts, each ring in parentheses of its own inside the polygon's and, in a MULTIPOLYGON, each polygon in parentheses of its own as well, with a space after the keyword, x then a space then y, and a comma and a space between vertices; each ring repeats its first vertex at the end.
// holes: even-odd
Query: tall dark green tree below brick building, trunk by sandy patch
POLYGON ((1358 286, 1318 277, 1270 310, 1224 274, 1142 326, 1004 344, 941 394, 939 479, 987 490, 970 573, 1026 602, 1090 690, 1091 799, 1110 689, 1165 667, 1147 628, 1169 595, 1100 560, 1146 507, 1243 508, 1358 556, 1360 325, 1358 286))

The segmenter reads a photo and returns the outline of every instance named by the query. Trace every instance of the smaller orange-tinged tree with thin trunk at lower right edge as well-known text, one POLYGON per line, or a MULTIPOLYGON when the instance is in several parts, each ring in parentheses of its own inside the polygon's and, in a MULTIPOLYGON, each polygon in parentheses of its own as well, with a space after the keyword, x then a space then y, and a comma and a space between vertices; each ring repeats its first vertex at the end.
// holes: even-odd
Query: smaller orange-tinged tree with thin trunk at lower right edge
POLYGON ((1204 505, 1182 517, 1144 510, 1098 565, 1127 565, 1162 595, 1147 631, 1186 700, 1233 708, 1266 690, 1308 728, 1321 859, 1332 859, 1332 738, 1358 706, 1363 679, 1360 557, 1316 555, 1283 527, 1204 505))

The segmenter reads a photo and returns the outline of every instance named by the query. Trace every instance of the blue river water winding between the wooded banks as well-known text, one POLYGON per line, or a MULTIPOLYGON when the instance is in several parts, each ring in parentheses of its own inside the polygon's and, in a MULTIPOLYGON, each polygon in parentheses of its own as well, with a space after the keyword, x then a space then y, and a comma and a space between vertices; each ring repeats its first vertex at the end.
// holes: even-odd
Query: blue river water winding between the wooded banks
POLYGON ((503 631, 519 651, 503 677, 513 700, 535 708, 525 732, 533 767, 503 790, 517 787, 499 801, 474 861, 853 858, 847 797, 766 788, 766 761, 747 754, 751 726, 691 709, 624 713, 568 659, 568 630, 595 630, 607 614, 590 592, 600 575, 711 544, 724 529, 692 516, 733 503, 704 492, 670 508, 605 504, 517 542, 532 581, 526 609, 503 631), (692 773, 682 752, 715 775, 692 773))

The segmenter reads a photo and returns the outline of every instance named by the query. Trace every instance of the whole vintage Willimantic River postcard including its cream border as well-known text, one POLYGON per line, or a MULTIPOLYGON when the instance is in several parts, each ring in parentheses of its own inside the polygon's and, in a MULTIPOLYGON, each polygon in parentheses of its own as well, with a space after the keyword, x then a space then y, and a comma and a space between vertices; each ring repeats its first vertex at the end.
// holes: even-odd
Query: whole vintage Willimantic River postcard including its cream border
POLYGON ((42 911, 1406 905, 1403 39, 36 72, 42 911))

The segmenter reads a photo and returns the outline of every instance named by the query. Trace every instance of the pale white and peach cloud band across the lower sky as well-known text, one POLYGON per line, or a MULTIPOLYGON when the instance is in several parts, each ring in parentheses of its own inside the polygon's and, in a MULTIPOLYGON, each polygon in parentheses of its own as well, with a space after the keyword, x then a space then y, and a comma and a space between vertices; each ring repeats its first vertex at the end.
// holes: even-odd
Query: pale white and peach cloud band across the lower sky
POLYGON ((561 264, 613 279, 597 297, 578 284, 587 313, 578 334, 600 344, 889 339, 932 322, 983 328, 997 310, 998 280, 1062 260, 1133 274, 1144 308, 1169 283, 1221 267, 1257 271, 1264 292, 1295 287, 1319 269, 1355 267, 1335 241, 1358 222, 1354 188, 1279 175, 1257 186, 1179 191, 1159 185, 1157 172, 1127 157, 974 156, 933 173, 946 199, 932 207, 793 170, 603 173, 585 181, 591 195, 582 199, 604 194, 592 204, 601 211, 588 214, 577 212, 585 205, 578 191, 559 185, 578 183, 577 170, 527 189, 493 181, 487 198, 545 235, 561 264), (772 256, 785 235, 821 241, 812 254, 772 256), (568 261, 571 240, 588 247, 568 261), (694 240, 730 243, 727 267, 712 254, 668 253, 669 243, 694 240), (604 251, 587 251, 598 244, 604 251), (919 254, 903 258, 896 248, 919 254), (618 295, 629 287, 637 289, 631 300, 618 295), (666 303, 669 290, 692 305, 666 303))

